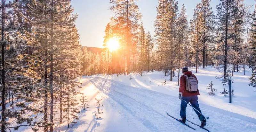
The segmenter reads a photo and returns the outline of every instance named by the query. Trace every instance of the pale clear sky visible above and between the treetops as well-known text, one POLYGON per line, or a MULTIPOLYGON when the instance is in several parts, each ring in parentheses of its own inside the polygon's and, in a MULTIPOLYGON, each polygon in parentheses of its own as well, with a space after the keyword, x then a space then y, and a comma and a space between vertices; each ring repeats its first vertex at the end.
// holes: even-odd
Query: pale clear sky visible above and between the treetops
MULTIPOLYGON (((75 22, 80 34, 80 44, 90 47, 102 47, 103 37, 106 25, 114 13, 108 8, 110 0, 72 0, 71 5, 74 7, 74 13, 78 14, 75 22)), ((201 0, 178 0, 179 10, 182 4, 185 5, 188 20, 192 18, 196 4, 201 0)), ((154 36, 154 20, 156 18, 156 6, 158 0, 138 0, 136 2, 142 14, 142 21, 145 31, 150 31, 154 36)), ((210 5, 214 14, 216 14, 216 5, 219 0, 212 0, 210 5)), ((255 0, 244 0, 245 5, 254 5, 255 0)), ((251 12, 254 6, 251 7, 251 12)))

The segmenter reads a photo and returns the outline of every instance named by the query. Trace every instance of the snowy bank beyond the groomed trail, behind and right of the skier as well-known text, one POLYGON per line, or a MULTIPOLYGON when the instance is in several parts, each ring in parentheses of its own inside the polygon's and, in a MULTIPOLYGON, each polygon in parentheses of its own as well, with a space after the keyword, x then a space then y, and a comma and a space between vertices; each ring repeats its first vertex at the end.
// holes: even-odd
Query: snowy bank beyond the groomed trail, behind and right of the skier
MULTIPOLYGON (((239 117, 244 120, 256 123, 256 92, 255 88, 248 86, 250 83, 249 78, 251 77, 251 69, 245 70, 245 75, 243 72, 234 73, 234 83, 232 88, 234 88, 234 96, 232 97, 232 103, 229 103, 229 97, 220 94, 223 88, 229 89, 227 86, 223 86, 220 79, 216 79, 216 76, 220 76, 220 72, 216 72, 213 67, 206 67, 205 69, 199 69, 195 73, 195 69, 190 68, 199 80, 198 87, 200 95, 198 100, 201 106, 209 109, 216 109, 221 112, 225 112, 228 115, 234 117, 239 117), (218 91, 215 92, 214 96, 208 95, 207 86, 209 86, 210 81, 213 81, 214 88, 218 91), (251 117, 251 118, 248 118, 251 117)), ((241 71, 243 69, 240 69, 241 71)), ((163 72, 149 72, 142 77, 140 75, 110 75, 110 76, 100 76, 101 78, 111 79, 118 81, 124 85, 149 89, 164 94, 169 94, 178 98, 178 78, 174 78, 173 82, 170 82, 170 76, 164 77, 163 72), (166 80, 166 86, 162 86, 162 82, 166 80)))

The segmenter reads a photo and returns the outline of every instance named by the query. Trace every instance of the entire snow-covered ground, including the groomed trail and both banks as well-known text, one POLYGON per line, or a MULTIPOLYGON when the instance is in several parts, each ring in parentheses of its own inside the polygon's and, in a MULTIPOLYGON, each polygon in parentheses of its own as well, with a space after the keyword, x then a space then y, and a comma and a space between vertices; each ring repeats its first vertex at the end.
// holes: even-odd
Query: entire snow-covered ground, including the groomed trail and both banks
MULTIPOLYGON (((195 70, 189 69, 195 73, 195 70)), ((242 70, 242 69, 240 69, 242 70)), ((256 131, 256 92, 248 86, 251 71, 246 69, 243 72, 234 73, 234 97, 232 103, 229 98, 220 94, 223 90, 222 83, 216 76, 221 73, 215 72, 214 68, 199 69, 195 73, 199 80, 199 105, 203 114, 209 116, 205 128, 212 132, 219 131, 256 131), (213 81, 214 88, 218 91, 214 96, 208 95, 206 87, 213 81)), ((140 75, 109 75, 83 77, 82 88, 88 98, 89 108, 81 110, 79 120, 74 127, 67 128, 67 122, 56 126, 57 131, 65 132, 139 132, 139 131, 195 131, 177 122, 166 115, 168 112, 176 118, 180 118, 180 100, 178 99, 177 77, 173 82, 169 81, 170 76, 164 77, 163 72, 149 72, 140 75), (130 77, 132 78, 130 80, 130 77), (166 86, 162 82, 166 79, 166 86), (101 119, 95 119, 97 111, 94 100, 102 99, 104 105, 100 107, 101 119)), ((228 87, 225 87, 227 89, 228 87)), ((77 96, 77 99, 80 97, 77 96)), ((188 120, 200 124, 192 108, 187 107, 188 120)), ((189 122, 188 125, 197 131, 204 132, 189 122)), ((28 131, 28 130, 23 130, 28 131)))

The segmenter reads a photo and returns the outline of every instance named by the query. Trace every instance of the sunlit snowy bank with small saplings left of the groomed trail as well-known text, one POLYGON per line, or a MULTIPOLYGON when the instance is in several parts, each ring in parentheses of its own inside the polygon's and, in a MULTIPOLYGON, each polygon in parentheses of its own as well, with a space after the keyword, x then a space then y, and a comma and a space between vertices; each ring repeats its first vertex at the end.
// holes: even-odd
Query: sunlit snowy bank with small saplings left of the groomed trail
MULTIPOLYGON (((56 127, 60 132, 114 132, 114 131, 144 131, 149 130, 140 125, 140 122, 135 120, 122 106, 120 106, 108 95, 99 91, 88 79, 82 79, 82 88, 80 92, 84 93, 88 98, 89 108, 81 110, 78 114, 79 120, 74 124, 74 127, 67 128, 67 122, 56 127), (100 108, 103 114, 101 119, 95 119, 95 112, 97 110, 95 98, 102 99, 101 103, 104 105, 100 108)), ((80 96, 79 96, 80 97, 80 96)), ((77 99, 79 98, 77 97, 77 99)))

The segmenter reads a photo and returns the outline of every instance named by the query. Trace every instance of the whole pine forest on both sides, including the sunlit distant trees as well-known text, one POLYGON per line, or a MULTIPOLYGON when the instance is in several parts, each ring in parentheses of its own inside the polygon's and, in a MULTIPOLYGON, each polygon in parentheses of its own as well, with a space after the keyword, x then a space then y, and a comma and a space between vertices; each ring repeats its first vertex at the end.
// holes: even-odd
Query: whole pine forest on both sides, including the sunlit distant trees
POLYGON ((212 66, 225 84, 249 66, 249 85, 256 87, 256 9, 250 12, 243 0, 220 0, 214 14, 210 2, 201 0, 188 20, 178 0, 158 0, 151 36, 136 0, 110 0, 114 16, 102 50, 93 53, 80 44, 71 0, 1 0, 1 131, 74 126, 81 110, 76 96, 82 94, 86 108, 82 76, 162 71, 179 85, 182 67, 212 66))

